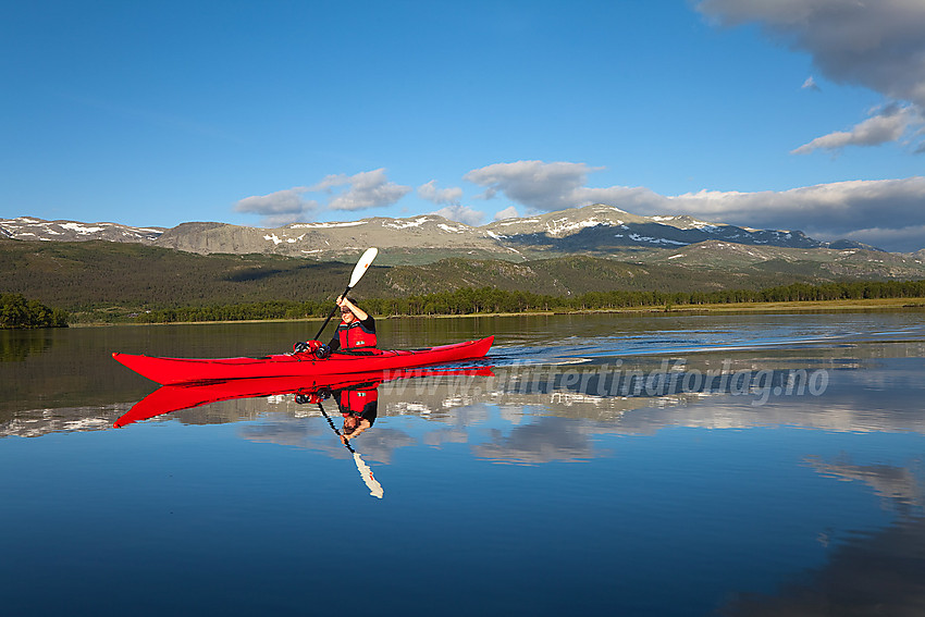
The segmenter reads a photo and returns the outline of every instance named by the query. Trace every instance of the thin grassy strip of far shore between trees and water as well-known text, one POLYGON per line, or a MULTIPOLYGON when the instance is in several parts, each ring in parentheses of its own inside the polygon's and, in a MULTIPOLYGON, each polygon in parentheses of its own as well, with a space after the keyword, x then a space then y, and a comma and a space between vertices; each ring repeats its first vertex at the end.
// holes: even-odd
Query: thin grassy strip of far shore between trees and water
MULTIPOLYGON (((864 311, 864 310, 922 310, 925 309, 925 297, 918 298, 865 298, 850 300, 800 300, 800 301, 775 301, 775 303, 720 303, 704 305, 671 305, 671 306, 643 306, 626 307, 618 309, 584 309, 584 310, 542 310, 523 312, 476 312, 466 314, 393 314, 373 316, 379 320, 384 319, 465 319, 485 317, 528 317, 528 316, 559 316, 559 314, 696 314, 696 313, 758 313, 758 312, 838 312, 838 311, 864 311)), ((307 317, 300 319, 247 319, 247 320, 223 320, 223 321, 172 321, 166 323, 106 323, 87 322, 72 323, 71 328, 101 328, 108 325, 194 325, 205 323, 288 323, 288 322, 320 322, 322 317, 307 317)))

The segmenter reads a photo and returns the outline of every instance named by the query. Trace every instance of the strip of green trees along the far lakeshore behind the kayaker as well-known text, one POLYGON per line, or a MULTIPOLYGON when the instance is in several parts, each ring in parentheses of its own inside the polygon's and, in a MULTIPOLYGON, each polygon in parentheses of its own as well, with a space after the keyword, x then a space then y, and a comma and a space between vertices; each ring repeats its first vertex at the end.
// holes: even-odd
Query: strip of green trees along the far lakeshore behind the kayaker
MULTIPOLYGON (((794 283, 765 289, 724 289, 715 292, 589 292, 575 296, 551 296, 496 287, 465 287, 453 292, 410 295, 403 298, 367 298, 359 304, 375 316, 474 314, 490 312, 531 312, 550 310, 607 310, 675 305, 818 301, 863 298, 925 297, 922 281, 858 281, 809 284, 794 283)), ((140 323, 177 321, 240 321, 263 319, 303 319, 326 317, 331 301, 308 300, 248 303, 153 310, 135 318, 140 323)))

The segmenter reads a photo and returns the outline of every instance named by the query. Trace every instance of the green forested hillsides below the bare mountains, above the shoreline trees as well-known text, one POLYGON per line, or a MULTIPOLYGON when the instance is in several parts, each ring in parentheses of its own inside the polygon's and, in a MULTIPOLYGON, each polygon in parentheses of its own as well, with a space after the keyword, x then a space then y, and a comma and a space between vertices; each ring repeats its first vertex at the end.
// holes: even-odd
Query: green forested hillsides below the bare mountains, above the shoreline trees
MULTIPOLYGON (((303 316, 314 312, 312 303, 330 301, 340 293, 353 266, 267 255, 202 256, 138 244, 5 239, 0 240, 0 292, 72 311, 78 320, 122 319, 146 311, 164 316, 159 311, 208 307, 200 310, 203 313, 232 306, 237 307, 235 314, 222 319, 242 319, 248 311, 240 307, 267 303, 283 303, 286 314, 303 316)), ((454 258, 425 266, 372 267, 356 295, 386 301, 490 288, 521 297, 577 298, 590 293, 755 291, 832 280, 804 266, 780 262, 782 270, 776 271, 767 262, 715 269, 593 257, 522 263, 454 258)), ((445 304, 439 296, 429 301, 445 304)), ((266 306, 258 312, 266 312, 266 306)))

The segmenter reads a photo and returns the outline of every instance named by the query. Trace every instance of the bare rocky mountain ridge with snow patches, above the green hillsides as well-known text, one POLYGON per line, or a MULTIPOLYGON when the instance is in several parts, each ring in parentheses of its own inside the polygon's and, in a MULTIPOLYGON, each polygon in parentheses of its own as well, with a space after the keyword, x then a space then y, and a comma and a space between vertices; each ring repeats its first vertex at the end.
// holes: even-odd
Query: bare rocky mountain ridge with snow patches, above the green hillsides
MULTIPOLYGON (((471 226, 437 214, 407 219, 374 217, 349 222, 292 223, 261 229, 190 222, 175 227, 118 223, 0 219, 0 237, 23 240, 109 240, 140 243, 200 255, 281 255, 336 260, 369 246, 382 250, 379 263, 421 264, 447 257, 529 261, 585 255, 648 260, 666 249, 700 243, 753 247, 883 252, 852 240, 826 243, 799 231, 754 230, 691 217, 640 217, 604 205, 471 226)), ((920 251, 922 254, 922 251, 920 251)), ((914 254, 913 259, 925 256, 914 254)), ((674 259, 681 259, 675 257, 674 259)))

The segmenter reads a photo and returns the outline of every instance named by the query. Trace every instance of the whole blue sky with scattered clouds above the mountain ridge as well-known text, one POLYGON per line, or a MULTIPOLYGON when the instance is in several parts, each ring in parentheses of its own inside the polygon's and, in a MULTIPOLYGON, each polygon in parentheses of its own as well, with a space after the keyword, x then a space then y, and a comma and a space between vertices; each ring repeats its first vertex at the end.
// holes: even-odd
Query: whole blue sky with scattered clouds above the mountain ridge
POLYGON ((925 247, 925 2, 3 2, 0 218, 638 214, 925 247))

